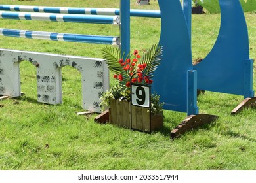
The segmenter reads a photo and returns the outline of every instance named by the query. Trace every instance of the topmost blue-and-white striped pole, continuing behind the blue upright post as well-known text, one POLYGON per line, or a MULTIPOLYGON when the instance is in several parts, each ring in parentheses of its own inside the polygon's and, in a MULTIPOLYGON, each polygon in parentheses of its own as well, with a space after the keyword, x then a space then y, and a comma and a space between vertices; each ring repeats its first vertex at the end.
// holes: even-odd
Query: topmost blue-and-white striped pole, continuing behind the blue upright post
MULTIPOLYGON (((45 12, 62 14, 93 14, 93 15, 120 15, 117 8, 69 8, 69 7, 39 7, 22 5, 0 5, 0 10, 16 12, 45 12)), ((130 10, 130 16, 161 18, 160 10, 130 10)))

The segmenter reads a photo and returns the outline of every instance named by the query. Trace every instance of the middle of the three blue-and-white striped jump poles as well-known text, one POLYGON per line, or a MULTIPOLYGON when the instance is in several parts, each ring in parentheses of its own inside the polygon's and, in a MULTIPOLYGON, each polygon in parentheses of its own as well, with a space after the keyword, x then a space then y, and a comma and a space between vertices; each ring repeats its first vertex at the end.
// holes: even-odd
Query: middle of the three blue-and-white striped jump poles
POLYGON ((51 22, 76 22, 91 24, 116 24, 119 25, 119 16, 83 15, 83 14, 51 14, 38 12, 6 12, 0 11, 0 18, 14 20, 41 20, 51 22))

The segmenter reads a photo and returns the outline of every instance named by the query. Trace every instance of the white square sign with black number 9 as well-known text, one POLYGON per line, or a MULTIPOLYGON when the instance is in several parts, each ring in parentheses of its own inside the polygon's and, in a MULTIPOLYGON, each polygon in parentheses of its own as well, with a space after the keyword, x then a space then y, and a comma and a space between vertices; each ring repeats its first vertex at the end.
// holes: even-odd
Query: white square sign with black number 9
POLYGON ((148 86, 131 86, 131 104, 150 107, 150 88, 148 86))

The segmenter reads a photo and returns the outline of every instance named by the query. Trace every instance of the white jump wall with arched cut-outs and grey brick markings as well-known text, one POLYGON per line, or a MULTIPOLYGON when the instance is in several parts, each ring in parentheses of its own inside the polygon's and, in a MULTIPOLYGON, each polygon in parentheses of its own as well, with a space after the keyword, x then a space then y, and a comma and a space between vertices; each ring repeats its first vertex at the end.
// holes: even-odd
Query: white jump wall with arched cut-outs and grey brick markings
POLYGON ((108 67, 103 59, 0 49, 0 95, 21 95, 19 63, 23 60, 37 68, 37 101, 62 103, 61 69, 70 65, 81 73, 83 109, 101 112, 100 96, 109 88, 108 67))

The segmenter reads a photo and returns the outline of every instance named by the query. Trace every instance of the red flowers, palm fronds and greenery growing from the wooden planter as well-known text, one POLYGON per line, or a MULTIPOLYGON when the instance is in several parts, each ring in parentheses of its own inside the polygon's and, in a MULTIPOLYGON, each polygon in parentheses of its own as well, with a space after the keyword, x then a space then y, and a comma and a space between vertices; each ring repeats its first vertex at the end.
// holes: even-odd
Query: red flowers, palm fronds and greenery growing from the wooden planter
MULTIPOLYGON (((102 95, 100 104, 102 109, 110 105, 111 98, 131 101, 131 82, 135 84, 152 84, 154 71, 160 65, 162 53, 163 47, 153 44, 142 55, 139 54, 138 50, 134 50, 127 58, 123 58, 123 56, 120 58, 121 52, 118 48, 104 47, 103 58, 119 84, 102 95)), ((160 96, 156 95, 156 93, 152 94, 151 101, 150 112, 152 114, 161 113, 163 103, 160 103, 160 96)))

